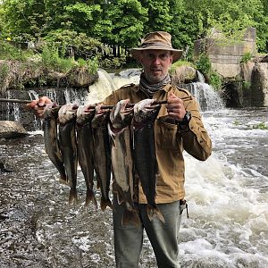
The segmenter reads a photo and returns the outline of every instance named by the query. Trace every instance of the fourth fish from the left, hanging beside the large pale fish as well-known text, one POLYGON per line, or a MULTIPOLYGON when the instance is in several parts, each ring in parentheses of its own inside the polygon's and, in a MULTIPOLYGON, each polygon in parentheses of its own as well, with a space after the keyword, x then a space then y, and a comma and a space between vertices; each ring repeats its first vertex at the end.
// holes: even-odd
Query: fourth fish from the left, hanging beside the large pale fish
POLYGON ((102 109, 101 105, 96 105, 96 113, 91 124, 94 140, 94 167, 97 185, 101 189, 100 206, 102 211, 105 211, 107 206, 113 209, 109 198, 112 172, 111 143, 108 132, 109 117, 110 109, 102 109))

